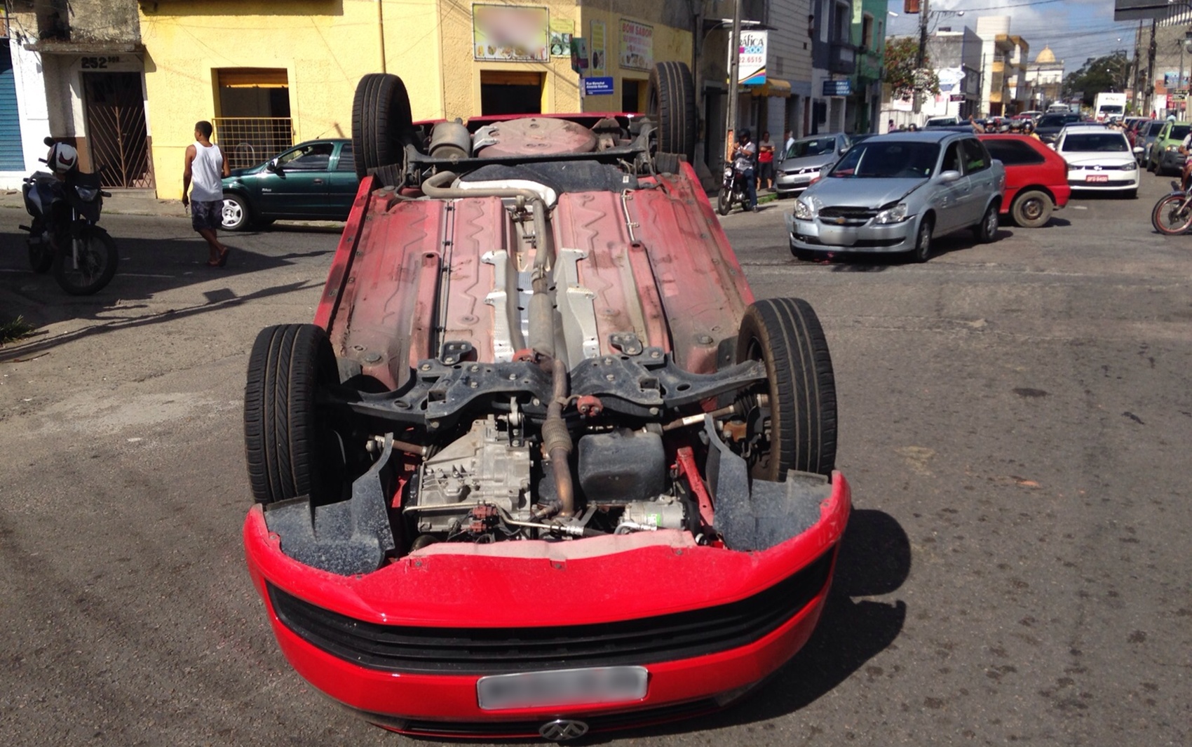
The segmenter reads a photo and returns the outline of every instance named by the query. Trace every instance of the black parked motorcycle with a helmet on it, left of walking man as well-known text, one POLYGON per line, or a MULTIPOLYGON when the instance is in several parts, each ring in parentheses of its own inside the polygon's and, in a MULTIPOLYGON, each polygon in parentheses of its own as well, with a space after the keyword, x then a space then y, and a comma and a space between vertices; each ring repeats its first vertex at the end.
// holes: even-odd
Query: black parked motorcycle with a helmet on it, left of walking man
POLYGON ((66 143, 46 137, 50 152, 39 159, 50 172, 25 178, 25 210, 32 216, 29 231, 29 264, 33 272, 54 268, 54 278, 73 296, 100 290, 116 274, 119 254, 116 242, 98 226, 104 198, 99 172, 79 169, 79 154, 66 143))

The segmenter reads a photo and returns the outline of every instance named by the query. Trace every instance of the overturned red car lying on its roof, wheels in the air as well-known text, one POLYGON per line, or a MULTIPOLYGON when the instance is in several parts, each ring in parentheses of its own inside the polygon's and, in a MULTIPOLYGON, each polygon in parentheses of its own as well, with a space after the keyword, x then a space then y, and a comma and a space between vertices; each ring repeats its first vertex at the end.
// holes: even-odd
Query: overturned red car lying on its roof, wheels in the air
POLYGON ((356 89, 361 186, 315 323, 263 329, 248 566, 286 658, 405 734, 545 737, 722 708, 824 607, 850 511, 811 305, 755 301, 645 116, 412 123, 356 89))

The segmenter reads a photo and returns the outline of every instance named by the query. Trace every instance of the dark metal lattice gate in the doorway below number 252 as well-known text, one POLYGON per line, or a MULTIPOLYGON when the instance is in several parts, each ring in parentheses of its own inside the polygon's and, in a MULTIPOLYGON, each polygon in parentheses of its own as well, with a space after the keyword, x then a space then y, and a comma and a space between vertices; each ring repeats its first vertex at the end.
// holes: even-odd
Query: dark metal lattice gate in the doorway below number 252
POLYGON ((149 132, 139 73, 83 73, 87 140, 106 187, 151 189, 149 132))

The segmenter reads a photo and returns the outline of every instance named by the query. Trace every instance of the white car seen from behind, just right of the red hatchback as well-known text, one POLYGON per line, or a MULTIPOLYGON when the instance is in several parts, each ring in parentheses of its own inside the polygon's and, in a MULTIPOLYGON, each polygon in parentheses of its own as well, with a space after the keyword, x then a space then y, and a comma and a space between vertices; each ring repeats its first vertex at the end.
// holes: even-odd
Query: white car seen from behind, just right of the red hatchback
POLYGON ((1066 126, 1055 150, 1068 162, 1072 189, 1138 196, 1138 161, 1122 132, 1100 125, 1066 126))

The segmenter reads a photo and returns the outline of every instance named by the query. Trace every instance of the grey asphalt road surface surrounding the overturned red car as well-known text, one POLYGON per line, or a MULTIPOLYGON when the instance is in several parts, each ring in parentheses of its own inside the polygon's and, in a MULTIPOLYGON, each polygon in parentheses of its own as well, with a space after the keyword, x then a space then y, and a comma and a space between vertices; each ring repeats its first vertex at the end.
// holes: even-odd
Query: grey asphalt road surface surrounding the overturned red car
MULTIPOLYGON (((1078 199, 926 265, 795 263, 789 203, 724 223, 831 344, 855 513, 817 634, 756 697, 614 743, 1192 742, 1192 236, 1078 199)), ((240 545, 257 329, 306 321, 339 231, 105 216, 67 298, 0 210, 0 743, 397 745, 284 661, 240 545)), ((540 604, 529 597, 524 604, 540 604)))

